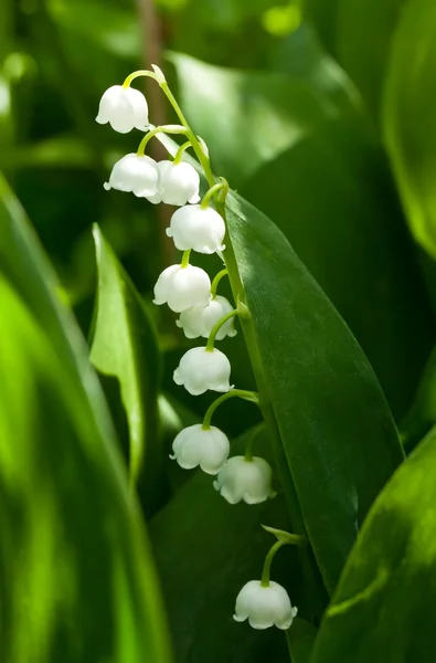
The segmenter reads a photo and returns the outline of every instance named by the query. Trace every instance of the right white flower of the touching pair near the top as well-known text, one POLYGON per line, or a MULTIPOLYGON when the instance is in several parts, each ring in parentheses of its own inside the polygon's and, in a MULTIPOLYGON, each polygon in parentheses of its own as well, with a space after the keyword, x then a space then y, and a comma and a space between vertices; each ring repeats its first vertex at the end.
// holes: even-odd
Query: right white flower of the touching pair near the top
POLYGON ((150 202, 176 206, 199 202, 200 176, 190 164, 158 161, 158 192, 148 198, 150 202))

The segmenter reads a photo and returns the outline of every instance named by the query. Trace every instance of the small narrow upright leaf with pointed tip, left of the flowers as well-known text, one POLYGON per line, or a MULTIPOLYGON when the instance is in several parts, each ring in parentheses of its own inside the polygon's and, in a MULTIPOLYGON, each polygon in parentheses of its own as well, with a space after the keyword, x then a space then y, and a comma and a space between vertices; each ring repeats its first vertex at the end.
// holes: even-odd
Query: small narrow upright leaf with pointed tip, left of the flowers
MULTIPOLYGON (((98 371, 118 379, 130 440, 130 481, 135 485, 143 456, 152 484, 159 482, 158 430, 160 355, 145 304, 123 265, 94 227, 98 266, 98 304, 91 360, 98 371)), ((155 487, 150 486, 150 487, 155 487)))

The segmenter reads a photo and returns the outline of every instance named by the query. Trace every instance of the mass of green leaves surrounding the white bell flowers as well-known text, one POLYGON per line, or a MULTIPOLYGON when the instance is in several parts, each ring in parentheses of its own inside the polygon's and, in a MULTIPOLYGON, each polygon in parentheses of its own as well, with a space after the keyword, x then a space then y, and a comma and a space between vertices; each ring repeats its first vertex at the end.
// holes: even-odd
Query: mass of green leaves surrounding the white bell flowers
MULTIPOLYGON (((434 3, 4 0, 0 12, 0 168, 50 257, 0 179, 0 657, 167 663, 161 590, 179 663, 433 661, 434 3), (278 496, 262 505, 230 506, 212 477, 168 459, 213 394, 174 385, 200 343, 150 303, 179 261, 171 209, 102 186, 141 135, 94 123, 104 90, 148 60, 238 190, 220 294, 232 285, 252 317, 219 348, 260 411, 230 399, 214 424, 238 436, 235 454, 264 417, 255 453, 278 496), (273 565, 299 608, 286 635, 232 619, 274 540, 260 525, 308 540, 273 565)), ((172 122, 145 90, 150 120, 172 122)))

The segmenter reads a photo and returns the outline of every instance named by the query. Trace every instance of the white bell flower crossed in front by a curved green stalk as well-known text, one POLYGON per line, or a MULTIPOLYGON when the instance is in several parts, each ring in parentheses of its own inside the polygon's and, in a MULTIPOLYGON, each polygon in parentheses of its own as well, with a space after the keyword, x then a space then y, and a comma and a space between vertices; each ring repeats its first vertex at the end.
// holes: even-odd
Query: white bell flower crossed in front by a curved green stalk
MULTIPOLYGON (((212 328, 221 318, 233 311, 232 304, 225 297, 216 295, 211 299, 208 306, 195 306, 188 308, 180 314, 180 318, 176 320, 178 327, 183 329, 187 338, 209 338, 212 328)), ((230 318, 222 327, 220 327, 215 338, 222 340, 226 336, 235 336, 235 320, 230 318)))

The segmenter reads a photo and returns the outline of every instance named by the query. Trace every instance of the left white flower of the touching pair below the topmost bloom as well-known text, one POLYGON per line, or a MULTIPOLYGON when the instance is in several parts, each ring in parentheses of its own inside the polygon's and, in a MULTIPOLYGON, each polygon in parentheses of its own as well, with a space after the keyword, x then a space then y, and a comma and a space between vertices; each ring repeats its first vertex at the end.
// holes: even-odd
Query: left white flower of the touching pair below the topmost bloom
POLYGON ((156 161, 145 155, 131 152, 114 165, 109 181, 103 186, 106 191, 131 191, 138 198, 146 198, 156 193, 158 179, 156 161))

